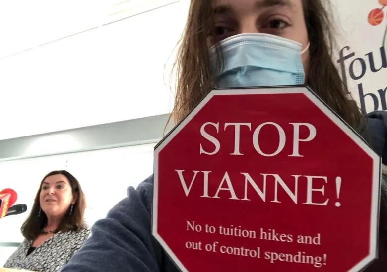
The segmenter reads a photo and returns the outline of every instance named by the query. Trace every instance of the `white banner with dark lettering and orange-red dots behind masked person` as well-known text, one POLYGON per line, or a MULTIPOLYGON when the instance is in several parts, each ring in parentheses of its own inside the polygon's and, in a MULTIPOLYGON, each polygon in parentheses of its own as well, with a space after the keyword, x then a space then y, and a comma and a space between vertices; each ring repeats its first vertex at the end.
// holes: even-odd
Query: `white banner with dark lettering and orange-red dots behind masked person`
POLYGON ((338 15, 334 61, 363 113, 387 110, 387 0, 332 0, 338 15))

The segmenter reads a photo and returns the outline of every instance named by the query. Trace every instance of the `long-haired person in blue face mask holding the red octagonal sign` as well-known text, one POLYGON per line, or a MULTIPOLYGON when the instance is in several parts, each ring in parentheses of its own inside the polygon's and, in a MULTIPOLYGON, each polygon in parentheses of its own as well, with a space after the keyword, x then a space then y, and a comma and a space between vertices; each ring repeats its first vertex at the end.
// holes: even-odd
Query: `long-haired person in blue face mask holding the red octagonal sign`
MULTIPOLYGON (((307 84, 387 164, 387 114, 375 112, 363 117, 349 97, 332 61, 332 26, 328 14, 323 0, 191 0, 177 59, 178 85, 173 111, 176 122, 183 120, 216 87, 307 84)), ((313 128, 309 131, 312 137, 313 128)), ((202 135, 212 139, 208 134, 202 135)), ((216 152, 218 146, 214 139, 212 142, 215 150, 202 148, 200 152, 216 152)), ((238 152, 235 149, 234 153, 238 152)), ((367 272, 387 270, 386 172, 382 182, 379 257, 367 272)), ((188 195, 190 188, 183 189, 188 195)), ((151 235, 152 192, 153 176, 137 190, 129 187, 128 198, 93 226, 92 237, 63 271, 178 271, 151 235)), ((207 197, 206 191, 203 196, 207 197)), ((196 226, 190 224, 190 227, 196 226)), ((221 231, 248 238, 256 235, 235 226, 221 231)), ((280 237, 283 243, 293 240, 285 234, 275 235, 272 230, 264 235, 267 239, 280 237)), ((315 240, 319 243, 320 237, 315 240)), ((259 255, 258 251, 245 253, 251 257, 259 255)), ((299 258, 304 257, 300 253, 299 258)), ((321 265, 320 261, 315 266, 321 265)))

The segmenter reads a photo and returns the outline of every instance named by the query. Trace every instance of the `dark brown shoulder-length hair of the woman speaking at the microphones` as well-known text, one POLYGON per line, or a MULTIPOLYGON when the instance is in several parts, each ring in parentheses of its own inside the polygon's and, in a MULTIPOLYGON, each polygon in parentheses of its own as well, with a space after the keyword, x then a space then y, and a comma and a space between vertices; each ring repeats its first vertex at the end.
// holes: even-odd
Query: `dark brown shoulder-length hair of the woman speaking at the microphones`
POLYGON ((77 196, 77 198, 76 202, 73 205, 73 210, 71 214, 69 210, 66 212, 64 218, 62 218, 61 223, 56 229, 56 232, 77 230, 84 227, 83 214, 86 208, 86 199, 78 180, 66 170, 55 170, 44 176, 44 178, 40 182, 40 186, 38 192, 36 193, 31 213, 21 226, 21 233, 28 240, 34 240, 47 224, 47 216, 41 210, 39 202, 40 191, 42 190, 42 183, 47 177, 58 174, 64 175, 68 179, 71 185, 72 195, 77 196))

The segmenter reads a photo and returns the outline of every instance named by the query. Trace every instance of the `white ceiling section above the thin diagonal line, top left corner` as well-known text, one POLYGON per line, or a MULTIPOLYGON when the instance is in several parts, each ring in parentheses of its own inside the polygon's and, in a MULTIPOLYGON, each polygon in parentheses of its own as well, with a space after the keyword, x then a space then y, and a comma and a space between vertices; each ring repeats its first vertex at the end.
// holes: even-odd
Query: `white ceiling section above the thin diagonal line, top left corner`
POLYGON ((1 0, 0 60, 179 0, 1 0))

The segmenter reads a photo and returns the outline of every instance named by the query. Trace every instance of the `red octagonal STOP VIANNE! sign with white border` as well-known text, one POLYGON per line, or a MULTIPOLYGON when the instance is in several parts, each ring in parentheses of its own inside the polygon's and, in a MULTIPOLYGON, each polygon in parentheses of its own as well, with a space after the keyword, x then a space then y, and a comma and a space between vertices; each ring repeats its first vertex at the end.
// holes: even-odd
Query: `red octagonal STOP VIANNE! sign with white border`
POLYGON ((182 271, 358 271, 379 181, 308 87, 212 90, 155 148, 152 233, 182 271))

